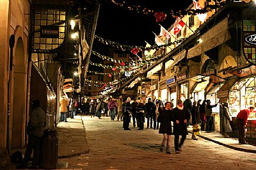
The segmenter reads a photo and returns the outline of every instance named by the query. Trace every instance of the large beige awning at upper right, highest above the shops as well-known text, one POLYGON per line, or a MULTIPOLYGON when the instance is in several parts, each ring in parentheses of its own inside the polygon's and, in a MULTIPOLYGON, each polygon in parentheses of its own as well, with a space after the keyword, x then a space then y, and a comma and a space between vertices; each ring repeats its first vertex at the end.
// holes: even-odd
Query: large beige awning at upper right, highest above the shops
POLYGON ((228 19, 222 20, 219 24, 212 27, 207 33, 202 35, 202 43, 199 43, 195 47, 188 50, 187 58, 193 58, 199 56, 203 52, 217 47, 221 43, 230 40, 231 36, 228 31, 228 19))

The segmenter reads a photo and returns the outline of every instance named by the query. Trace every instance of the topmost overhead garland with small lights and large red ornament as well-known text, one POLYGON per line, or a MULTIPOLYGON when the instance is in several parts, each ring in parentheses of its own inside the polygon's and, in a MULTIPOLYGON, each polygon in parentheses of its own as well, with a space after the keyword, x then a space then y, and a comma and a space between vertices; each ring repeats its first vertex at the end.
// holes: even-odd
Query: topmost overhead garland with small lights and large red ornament
POLYGON ((178 12, 162 12, 159 10, 149 10, 143 6, 136 6, 127 3, 127 1, 118 1, 118 0, 111 0, 113 4, 116 4, 120 8, 124 8, 125 10, 130 10, 132 12, 136 13, 143 13, 144 15, 152 15, 156 17, 156 22, 163 22, 167 17, 173 17, 175 18, 176 16, 178 17, 183 17, 184 15, 196 15, 198 13, 206 13, 206 12, 211 12, 212 10, 216 10, 218 8, 223 7, 225 4, 232 2, 231 0, 226 0, 226 1, 214 1, 216 4, 207 4, 204 8, 198 9, 198 10, 179 10, 178 12))

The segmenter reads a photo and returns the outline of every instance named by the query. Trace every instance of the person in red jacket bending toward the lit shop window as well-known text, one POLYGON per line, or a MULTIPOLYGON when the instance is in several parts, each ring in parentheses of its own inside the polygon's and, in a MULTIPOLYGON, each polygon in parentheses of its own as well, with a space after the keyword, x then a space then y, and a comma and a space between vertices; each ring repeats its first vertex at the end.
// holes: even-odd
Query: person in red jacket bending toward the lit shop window
POLYGON ((244 139, 244 136, 245 136, 244 129, 247 125, 247 120, 250 115, 250 112, 253 112, 253 110, 254 110, 254 107, 249 107, 249 109, 243 109, 236 116, 239 143, 241 144, 248 144, 244 139))

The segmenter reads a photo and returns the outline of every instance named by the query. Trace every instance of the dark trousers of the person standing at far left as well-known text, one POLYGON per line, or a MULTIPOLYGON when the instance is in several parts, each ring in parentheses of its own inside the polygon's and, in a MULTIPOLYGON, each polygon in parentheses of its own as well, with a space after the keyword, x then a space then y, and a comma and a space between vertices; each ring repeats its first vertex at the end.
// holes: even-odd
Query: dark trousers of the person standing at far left
POLYGON ((28 146, 22 160, 22 164, 28 164, 29 158, 33 151, 33 163, 32 166, 39 166, 39 156, 40 156, 40 141, 42 137, 36 137, 34 135, 28 135, 28 146))

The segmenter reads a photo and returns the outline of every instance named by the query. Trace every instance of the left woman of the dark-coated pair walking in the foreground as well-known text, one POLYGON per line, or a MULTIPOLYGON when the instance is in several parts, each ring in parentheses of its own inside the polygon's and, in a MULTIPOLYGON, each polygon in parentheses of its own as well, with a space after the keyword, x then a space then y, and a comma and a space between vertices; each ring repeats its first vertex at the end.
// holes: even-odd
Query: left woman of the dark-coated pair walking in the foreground
POLYGON ((171 102, 166 102, 163 111, 160 111, 158 120, 161 123, 159 128, 159 134, 163 134, 163 141, 161 143, 160 151, 171 154, 171 135, 172 135, 172 109, 171 102))

